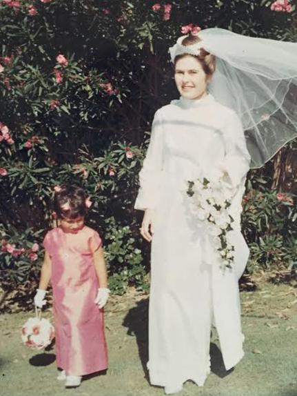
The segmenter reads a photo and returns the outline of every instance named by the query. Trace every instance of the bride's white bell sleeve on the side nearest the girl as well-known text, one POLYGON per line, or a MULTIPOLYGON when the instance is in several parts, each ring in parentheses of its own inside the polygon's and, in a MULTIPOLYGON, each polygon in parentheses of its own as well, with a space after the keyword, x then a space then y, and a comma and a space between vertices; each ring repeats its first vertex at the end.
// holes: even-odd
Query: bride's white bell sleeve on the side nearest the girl
POLYGON ((134 208, 138 210, 156 207, 163 166, 162 129, 160 110, 157 110, 152 123, 150 144, 143 161, 143 167, 139 172, 140 188, 134 204, 134 208))

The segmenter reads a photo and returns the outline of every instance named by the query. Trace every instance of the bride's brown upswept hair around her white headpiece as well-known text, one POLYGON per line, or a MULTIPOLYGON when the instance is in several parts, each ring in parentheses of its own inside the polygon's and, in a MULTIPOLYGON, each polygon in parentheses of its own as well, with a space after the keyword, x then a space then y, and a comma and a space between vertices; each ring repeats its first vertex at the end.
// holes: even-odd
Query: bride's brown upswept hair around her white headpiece
MULTIPOLYGON (((185 37, 185 39, 183 39, 181 43, 183 46, 187 47, 199 43, 200 41, 201 39, 199 39, 198 36, 194 34, 190 34, 189 36, 185 37)), ((209 54, 209 52, 207 52, 204 48, 201 48, 199 50, 199 55, 190 55, 190 54, 176 55, 176 57, 174 58, 174 66, 176 66, 176 62, 178 61, 178 59, 182 59, 184 57, 196 58, 201 63, 201 66, 207 77, 212 77, 212 75, 214 74, 214 70, 216 70, 216 57, 212 54, 209 54)))

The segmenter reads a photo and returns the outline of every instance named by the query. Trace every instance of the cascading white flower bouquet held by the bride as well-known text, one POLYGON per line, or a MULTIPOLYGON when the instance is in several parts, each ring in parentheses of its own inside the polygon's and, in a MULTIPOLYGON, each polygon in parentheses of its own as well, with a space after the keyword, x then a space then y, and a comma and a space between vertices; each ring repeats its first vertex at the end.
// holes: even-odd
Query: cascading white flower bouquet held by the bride
POLYGON ((188 181, 187 195, 191 198, 194 214, 205 221, 209 235, 214 239, 214 246, 221 258, 221 268, 232 268, 234 264, 234 246, 228 234, 232 228, 233 217, 229 213, 232 194, 225 182, 216 182, 206 178, 188 181))

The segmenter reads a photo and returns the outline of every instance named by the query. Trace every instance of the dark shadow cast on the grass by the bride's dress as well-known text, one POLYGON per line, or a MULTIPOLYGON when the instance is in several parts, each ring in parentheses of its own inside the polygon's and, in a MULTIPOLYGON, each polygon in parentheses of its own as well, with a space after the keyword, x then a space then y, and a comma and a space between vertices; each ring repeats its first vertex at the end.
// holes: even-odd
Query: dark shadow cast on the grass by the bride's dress
MULTIPOLYGON (((137 305, 130 309, 123 320, 123 326, 127 327, 127 335, 135 336, 137 346, 139 349, 139 358, 143 366, 143 373, 147 382, 149 380, 149 373, 147 370, 148 360, 148 304, 149 299, 143 299, 137 302, 137 305)), ((210 344, 210 359, 212 373, 220 378, 227 377, 231 374, 234 368, 230 370, 225 369, 223 356, 221 350, 216 344, 210 344)), ((288 395, 290 396, 290 395, 288 395)), ((295 395, 297 396, 297 395, 295 395)))

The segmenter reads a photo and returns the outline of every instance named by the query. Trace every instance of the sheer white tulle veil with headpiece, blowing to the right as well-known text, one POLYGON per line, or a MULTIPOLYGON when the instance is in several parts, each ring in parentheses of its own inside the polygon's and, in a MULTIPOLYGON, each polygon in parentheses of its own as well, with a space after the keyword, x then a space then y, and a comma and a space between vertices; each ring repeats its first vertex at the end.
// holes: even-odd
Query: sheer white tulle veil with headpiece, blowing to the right
POLYGON ((201 30, 202 40, 170 48, 181 53, 204 48, 216 56, 209 92, 235 110, 245 130, 252 168, 260 168, 297 137, 297 43, 259 39, 220 28, 201 30))

